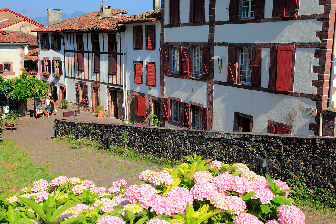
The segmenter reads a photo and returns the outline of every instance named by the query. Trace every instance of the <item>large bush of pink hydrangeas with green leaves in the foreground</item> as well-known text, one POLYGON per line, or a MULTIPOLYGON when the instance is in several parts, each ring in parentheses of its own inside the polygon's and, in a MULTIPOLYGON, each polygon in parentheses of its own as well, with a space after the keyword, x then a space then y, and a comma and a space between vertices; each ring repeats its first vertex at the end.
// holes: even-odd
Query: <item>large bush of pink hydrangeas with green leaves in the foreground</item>
POLYGON ((143 171, 125 189, 57 177, 0 196, 0 223, 48 224, 303 224, 288 185, 237 163, 184 157, 173 169, 143 171))

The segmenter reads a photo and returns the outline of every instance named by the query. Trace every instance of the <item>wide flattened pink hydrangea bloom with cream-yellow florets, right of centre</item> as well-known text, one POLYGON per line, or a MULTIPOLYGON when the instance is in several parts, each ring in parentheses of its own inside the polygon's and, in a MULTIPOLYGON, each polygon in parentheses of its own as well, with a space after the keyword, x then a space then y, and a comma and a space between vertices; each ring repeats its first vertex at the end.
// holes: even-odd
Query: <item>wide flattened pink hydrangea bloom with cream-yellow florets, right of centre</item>
POLYGON ((233 211, 231 214, 240 214, 246 209, 245 201, 237 196, 216 197, 212 204, 222 210, 233 211))

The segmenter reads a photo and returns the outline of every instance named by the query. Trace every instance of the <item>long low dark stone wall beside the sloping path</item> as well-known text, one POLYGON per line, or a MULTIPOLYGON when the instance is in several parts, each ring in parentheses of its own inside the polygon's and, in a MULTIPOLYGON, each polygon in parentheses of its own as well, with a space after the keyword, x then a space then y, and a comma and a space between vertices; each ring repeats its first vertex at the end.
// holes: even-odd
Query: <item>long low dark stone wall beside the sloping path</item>
MULTIPOLYGON (((238 132, 175 129, 133 124, 89 123, 55 120, 59 136, 72 133, 103 143, 109 133, 111 144, 126 143, 140 153, 167 159, 192 156, 225 163, 243 162, 251 169, 253 156, 269 159, 272 178, 286 180, 292 174, 304 176, 310 187, 336 187, 336 138, 238 132)), ((103 143, 105 144, 105 143, 103 143)))

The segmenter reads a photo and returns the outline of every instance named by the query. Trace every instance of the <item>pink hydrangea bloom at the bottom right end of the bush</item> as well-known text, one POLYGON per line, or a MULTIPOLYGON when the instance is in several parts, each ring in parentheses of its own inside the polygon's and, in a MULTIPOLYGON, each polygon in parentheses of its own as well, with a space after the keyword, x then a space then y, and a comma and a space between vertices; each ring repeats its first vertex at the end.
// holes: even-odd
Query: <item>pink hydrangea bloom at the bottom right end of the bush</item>
POLYGON ((299 208, 283 204, 278 208, 278 221, 280 224, 305 224, 306 217, 299 208))

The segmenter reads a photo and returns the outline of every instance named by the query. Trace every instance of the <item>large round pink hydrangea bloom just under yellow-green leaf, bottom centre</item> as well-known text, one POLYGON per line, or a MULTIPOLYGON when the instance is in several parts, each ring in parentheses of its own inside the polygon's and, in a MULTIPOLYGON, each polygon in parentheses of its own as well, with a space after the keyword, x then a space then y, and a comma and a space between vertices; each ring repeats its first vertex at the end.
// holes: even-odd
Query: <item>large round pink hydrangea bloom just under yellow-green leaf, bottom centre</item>
POLYGON ((173 213, 184 213, 189 204, 193 204, 193 195, 187 188, 173 187, 165 196, 170 204, 173 213))

